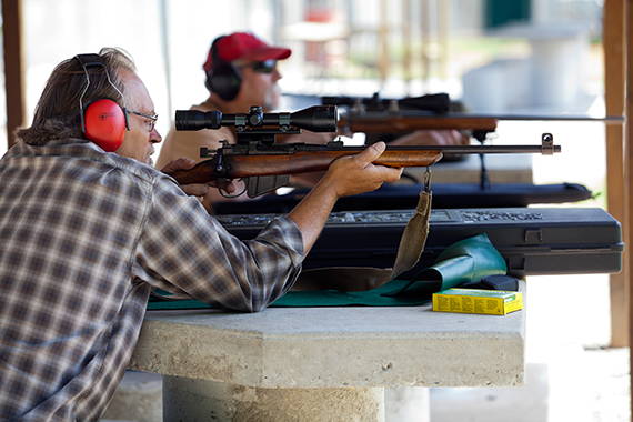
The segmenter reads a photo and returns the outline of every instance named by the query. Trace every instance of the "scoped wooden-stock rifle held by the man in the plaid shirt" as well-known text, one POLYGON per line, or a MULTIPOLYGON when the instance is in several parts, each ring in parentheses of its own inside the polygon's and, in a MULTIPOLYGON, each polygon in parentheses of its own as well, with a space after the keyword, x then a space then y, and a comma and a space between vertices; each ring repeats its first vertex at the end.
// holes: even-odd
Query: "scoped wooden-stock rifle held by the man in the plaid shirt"
MULTIPOLYGON (((291 174, 326 170, 340 157, 352 155, 364 147, 345 147, 342 141, 326 144, 275 143, 277 134, 298 134, 301 129, 313 132, 335 132, 335 105, 314 105, 292 113, 263 113, 261 107, 251 107, 248 113, 222 114, 219 111, 179 110, 177 130, 220 129, 234 127, 237 144, 222 141, 222 147, 210 151, 200 149, 201 158, 191 170, 169 173, 180 184, 207 183, 218 180, 220 192, 229 197, 225 187, 234 179, 245 182, 250 198, 271 192, 290 182, 291 174)), ((404 168, 430 167, 444 154, 542 153, 560 152, 550 133, 544 133, 541 145, 446 145, 389 147, 374 164, 404 168)), ((240 192, 241 194, 243 192, 240 192)), ((239 195, 238 194, 238 195, 239 195)))

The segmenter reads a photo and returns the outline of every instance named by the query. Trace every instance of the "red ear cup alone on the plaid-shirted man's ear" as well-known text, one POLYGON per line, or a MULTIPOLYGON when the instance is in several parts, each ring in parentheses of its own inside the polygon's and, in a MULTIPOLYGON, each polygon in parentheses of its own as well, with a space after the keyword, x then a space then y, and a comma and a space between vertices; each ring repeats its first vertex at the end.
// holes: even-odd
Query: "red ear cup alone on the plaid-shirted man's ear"
POLYGON ((105 152, 121 147, 125 137, 125 117, 119 104, 112 100, 97 100, 84 113, 86 138, 97 143, 105 152))

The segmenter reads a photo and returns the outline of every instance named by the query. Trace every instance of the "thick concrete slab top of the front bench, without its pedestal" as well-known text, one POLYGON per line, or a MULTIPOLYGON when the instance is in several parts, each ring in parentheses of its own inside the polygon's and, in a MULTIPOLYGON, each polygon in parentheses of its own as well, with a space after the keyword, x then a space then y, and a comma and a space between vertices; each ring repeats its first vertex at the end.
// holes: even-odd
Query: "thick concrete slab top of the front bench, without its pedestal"
POLYGON ((524 346, 525 310, 149 311, 130 369, 253 388, 512 386, 524 346))

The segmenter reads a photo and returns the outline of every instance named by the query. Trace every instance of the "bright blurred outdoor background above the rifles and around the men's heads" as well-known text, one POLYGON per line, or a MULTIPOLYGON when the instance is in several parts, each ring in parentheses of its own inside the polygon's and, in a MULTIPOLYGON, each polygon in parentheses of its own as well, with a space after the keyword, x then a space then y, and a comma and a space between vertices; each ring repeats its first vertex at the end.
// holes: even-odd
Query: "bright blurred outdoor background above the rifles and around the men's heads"
POLYGON ((22 0, 28 120, 57 63, 121 47, 137 61, 164 134, 175 109, 205 99, 202 63, 211 41, 232 31, 292 49, 280 62, 285 110, 294 96, 446 92, 473 112, 584 112, 603 92, 601 3, 22 0))

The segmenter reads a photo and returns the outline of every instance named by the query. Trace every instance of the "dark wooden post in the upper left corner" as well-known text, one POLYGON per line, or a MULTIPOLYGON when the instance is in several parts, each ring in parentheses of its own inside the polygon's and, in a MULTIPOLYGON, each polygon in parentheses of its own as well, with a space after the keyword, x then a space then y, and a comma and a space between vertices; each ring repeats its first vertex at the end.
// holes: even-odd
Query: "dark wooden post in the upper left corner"
POLYGON ((4 87, 7 90, 7 140, 16 144, 13 130, 24 124, 24 54, 22 49, 22 0, 2 0, 4 32, 4 87))

